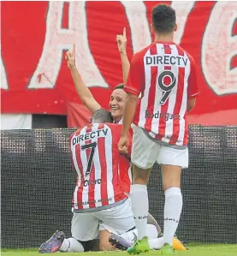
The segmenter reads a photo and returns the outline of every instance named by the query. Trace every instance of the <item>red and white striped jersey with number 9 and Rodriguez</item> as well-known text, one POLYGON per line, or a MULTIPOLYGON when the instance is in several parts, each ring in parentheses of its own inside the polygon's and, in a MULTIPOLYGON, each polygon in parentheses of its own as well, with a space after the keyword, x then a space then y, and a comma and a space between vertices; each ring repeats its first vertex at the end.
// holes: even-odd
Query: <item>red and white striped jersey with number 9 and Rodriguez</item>
POLYGON ((187 145, 187 98, 198 94, 193 57, 175 43, 152 43, 134 54, 124 90, 142 95, 134 124, 153 139, 187 145))

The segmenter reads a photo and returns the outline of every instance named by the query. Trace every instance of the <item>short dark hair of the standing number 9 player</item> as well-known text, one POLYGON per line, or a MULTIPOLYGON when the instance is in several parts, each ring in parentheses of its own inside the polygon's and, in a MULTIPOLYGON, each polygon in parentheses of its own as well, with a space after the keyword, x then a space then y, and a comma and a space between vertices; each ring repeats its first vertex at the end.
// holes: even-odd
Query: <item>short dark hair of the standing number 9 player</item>
POLYGON ((152 24, 157 33, 171 33, 175 28, 175 9, 167 4, 157 4, 152 9, 152 24))

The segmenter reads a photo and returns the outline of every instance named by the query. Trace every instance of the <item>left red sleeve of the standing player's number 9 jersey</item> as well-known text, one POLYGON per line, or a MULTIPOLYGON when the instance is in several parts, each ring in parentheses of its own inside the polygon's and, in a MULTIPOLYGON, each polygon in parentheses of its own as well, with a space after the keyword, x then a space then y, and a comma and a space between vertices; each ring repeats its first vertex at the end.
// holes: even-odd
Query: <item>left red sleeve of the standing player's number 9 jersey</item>
POLYGON ((144 90, 144 86, 143 56, 140 53, 135 53, 130 63, 127 83, 124 86, 124 91, 138 97, 139 93, 144 90))

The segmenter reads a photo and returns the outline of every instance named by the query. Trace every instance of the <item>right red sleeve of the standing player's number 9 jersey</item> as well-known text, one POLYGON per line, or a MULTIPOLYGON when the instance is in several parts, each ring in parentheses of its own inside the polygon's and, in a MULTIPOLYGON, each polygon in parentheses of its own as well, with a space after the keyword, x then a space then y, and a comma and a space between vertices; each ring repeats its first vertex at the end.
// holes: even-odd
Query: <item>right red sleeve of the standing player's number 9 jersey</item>
POLYGON ((193 60, 193 57, 190 57, 190 74, 188 78, 187 86, 187 98, 196 98, 199 94, 198 82, 197 82, 197 67, 193 60))

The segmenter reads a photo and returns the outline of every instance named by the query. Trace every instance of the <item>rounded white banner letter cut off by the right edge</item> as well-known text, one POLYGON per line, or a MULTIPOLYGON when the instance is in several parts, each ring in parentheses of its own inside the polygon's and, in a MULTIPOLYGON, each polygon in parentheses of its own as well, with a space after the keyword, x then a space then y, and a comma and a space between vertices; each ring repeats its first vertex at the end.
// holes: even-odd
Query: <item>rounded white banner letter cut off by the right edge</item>
POLYGON ((232 34, 236 18, 236 2, 216 2, 204 32, 204 78, 217 95, 237 92, 237 68, 230 67, 237 54, 237 36, 232 34))

